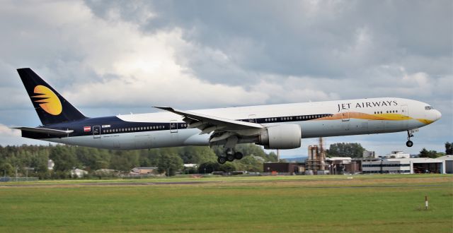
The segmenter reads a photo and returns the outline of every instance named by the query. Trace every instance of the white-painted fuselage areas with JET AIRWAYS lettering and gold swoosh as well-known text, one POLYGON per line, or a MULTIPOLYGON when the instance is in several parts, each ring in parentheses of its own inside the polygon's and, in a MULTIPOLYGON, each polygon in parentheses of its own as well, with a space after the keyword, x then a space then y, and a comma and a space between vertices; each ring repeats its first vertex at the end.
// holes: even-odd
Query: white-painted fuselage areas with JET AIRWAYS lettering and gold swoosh
MULTIPOLYGON (((250 122, 271 127, 280 124, 299 124, 302 138, 348 136, 372 133, 408 131, 432 123, 440 112, 429 104, 415 100, 382 97, 374 99, 273 104, 248 107, 192 110, 222 119, 248 119, 250 122), (328 117, 320 117, 326 114, 328 117), (309 119, 317 116, 316 119, 309 119)), ((126 122, 168 122, 166 130, 130 132, 105 122, 96 136, 47 138, 45 140, 71 145, 84 145, 111 149, 164 148, 184 145, 209 145, 210 133, 200 135, 199 129, 174 128, 170 124, 183 124, 183 117, 171 112, 120 115, 126 122), (109 132, 110 133, 105 133, 109 132), (112 133, 113 132, 113 133, 112 133)), ((91 127, 94 127, 91 126, 91 127)), ((246 143, 246 141, 240 142, 246 143)))

